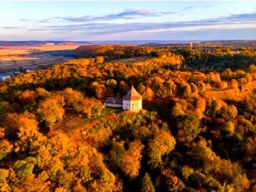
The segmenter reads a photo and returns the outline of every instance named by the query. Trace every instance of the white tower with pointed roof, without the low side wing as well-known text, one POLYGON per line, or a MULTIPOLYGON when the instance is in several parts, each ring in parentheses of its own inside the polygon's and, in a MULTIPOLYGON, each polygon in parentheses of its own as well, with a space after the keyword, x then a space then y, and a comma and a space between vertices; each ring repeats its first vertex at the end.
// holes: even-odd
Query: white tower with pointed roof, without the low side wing
POLYGON ((142 96, 131 86, 131 90, 123 97, 123 109, 139 112, 142 109, 142 96))

